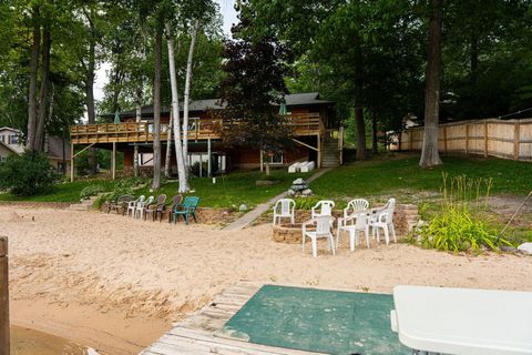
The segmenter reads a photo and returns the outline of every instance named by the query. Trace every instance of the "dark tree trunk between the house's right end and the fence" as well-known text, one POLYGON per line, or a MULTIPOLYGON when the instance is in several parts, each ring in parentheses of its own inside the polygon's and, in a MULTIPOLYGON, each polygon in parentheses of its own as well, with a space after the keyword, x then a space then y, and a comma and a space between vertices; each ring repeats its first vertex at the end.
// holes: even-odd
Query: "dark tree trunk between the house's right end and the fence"
POLYGON ((354 39, 355 45, 355 122, 357 124, 357 160, 366 159, 366 124, 364 122, 364 78, 362 78, 362 49, 360 39, 354 39))

